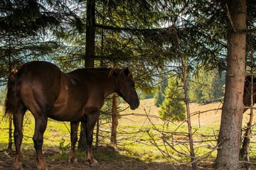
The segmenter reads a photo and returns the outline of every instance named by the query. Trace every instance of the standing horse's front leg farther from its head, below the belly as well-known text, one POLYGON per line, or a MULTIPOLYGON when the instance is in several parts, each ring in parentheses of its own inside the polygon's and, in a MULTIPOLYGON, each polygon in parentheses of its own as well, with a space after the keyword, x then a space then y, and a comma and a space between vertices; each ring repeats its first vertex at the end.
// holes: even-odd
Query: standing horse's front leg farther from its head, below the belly
POLYGON ((69 155, 69 162, 71 163, 78 163, 78 159, 75 158, 75 143, 78 141, 78 125, 79 122, 70 122, 70 139, 71 139, 71 148, 70 148, 70 155, 69 155))

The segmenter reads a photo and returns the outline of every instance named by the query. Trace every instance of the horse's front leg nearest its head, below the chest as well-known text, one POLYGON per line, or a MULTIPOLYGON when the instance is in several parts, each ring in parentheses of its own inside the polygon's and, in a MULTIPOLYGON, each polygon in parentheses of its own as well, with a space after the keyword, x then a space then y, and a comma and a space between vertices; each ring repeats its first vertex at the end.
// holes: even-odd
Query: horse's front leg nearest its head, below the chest
POLYGON ((95 124, 99 119, 100 112, 90 113, 85 115, 85 125, 86 125, 86 154, 85 154, 85 163, 89 166, 98 166, 97 161, 93 158, 92 155, 92 137, 93 137, 93 129, 95 128, 95 124))

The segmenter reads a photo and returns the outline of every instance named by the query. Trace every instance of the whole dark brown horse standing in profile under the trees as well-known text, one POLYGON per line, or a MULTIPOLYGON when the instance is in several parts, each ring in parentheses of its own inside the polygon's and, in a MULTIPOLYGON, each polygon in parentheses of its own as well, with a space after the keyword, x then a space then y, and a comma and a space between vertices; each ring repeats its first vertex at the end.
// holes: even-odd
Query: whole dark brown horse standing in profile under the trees
POLYGON ((48 118, 70 122, 70 162, 77 162, 75 143, 78 140, 78 125, 84 121, 87 142, 85 162, 89 166, 97 166, 92 157, 92 135, 105 97, 116 92, 129 103, 131 109, 139 106, 134 80, 127 68, 75 69, 65 74, 50 62, 28 62, 11 72, 7 86, 4 116, 13 116, 14 119, 14 169, 22 169, 21 142, 26 110, 31 111, 36 120, 33 142, 37 169, 41 170, 46 169, 42 146, 48 118))

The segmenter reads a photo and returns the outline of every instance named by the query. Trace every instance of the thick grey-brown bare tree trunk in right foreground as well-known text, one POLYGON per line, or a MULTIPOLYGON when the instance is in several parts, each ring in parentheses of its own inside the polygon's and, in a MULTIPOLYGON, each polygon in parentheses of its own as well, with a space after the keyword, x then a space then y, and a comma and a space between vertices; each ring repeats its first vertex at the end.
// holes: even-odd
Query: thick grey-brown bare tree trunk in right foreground
POLYGON ((237 169, 245 85, 246 1, 228 1, 228 65, 216 169, 237 169))

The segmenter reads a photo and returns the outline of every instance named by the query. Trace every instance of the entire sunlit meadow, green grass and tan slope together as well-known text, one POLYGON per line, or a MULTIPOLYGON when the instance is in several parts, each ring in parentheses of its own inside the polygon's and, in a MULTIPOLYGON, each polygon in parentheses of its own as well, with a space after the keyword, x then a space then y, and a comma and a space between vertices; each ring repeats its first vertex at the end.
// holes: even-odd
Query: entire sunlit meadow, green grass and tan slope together
MULTIPOLYGON (((127 108, 127 104, 120 104, 119 108, 127 108)), ((220 102, 207 105, 191 103, 190 109, 193 128, 193 142, 196 157, 200 161, 209 162, 215 159, 218 130, 220 128, 220 102), (210 110, 210 111, 209 111, 210 110), (206 112, 207 111, 207 112, 206 112)), ((129 108, 120 113, 117 129, 117 150, 119 154, 134 157, 144 162, 189 162, 189 143, 187 124, 167 123, 158 115, 159 108, 154 106, 154 99, 141 101, 135 111, 129 108)), ((244 113, 243 125, 246 125, 248 113, 244 113)), ((255 116, 256 117, 256 116, 255 116)), ((256 119, 254 118, 254 123, 256 119)), ((0 120, 0 150, 8 146, 8 125, 0 120)), ((111 124, 102 120, 100 125, 100 145, 110 145, 111 124)), ((31 113, 26 114, 23 123, 22 149, 33 149, 34 120, 31 113)), ((250 155, 256 159, 256 130, 252 129, 250 155)), ((70 124, 49 119, 44 135, 43 148, 46 152, 56 152, 55 157, 68 159, 70 149, 70 124)), ((95 140, 94 140, 95 142, 95 140)), ((14 147, 14 146, 13 146, 14 147)), ((79 154, 79 153, 78 153, 79 154)), ((79 157, 79 156, 78 156, 79 157)), ((82 157, 82 156, 81 156, 82 157)), ((100 155, 95 155, 100 157, 100 155)), ((105 158, 107 159, 107 158, 105 158)))

